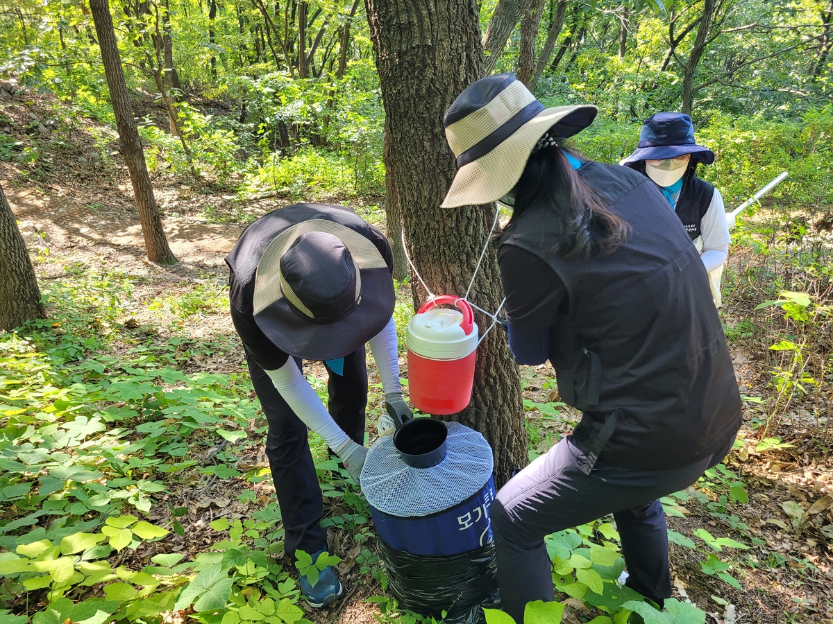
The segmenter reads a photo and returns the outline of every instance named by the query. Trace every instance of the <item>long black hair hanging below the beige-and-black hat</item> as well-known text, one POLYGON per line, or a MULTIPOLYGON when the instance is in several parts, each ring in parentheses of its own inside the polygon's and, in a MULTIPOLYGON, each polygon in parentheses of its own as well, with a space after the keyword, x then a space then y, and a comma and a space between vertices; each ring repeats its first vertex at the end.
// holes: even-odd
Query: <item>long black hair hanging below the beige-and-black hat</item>
MULTIPOLYGON (((625 242, 630 226, 607 209, 609 201, 573 170, 563 146, 547 146, 531 154, 515 186, 515 206, 502 235, 533 204, 544 204, 561 225, 549 252, 565 260, 590 260, 610 254, 625 242)), ((587 159, 579 156, 581 160, 587 159)))

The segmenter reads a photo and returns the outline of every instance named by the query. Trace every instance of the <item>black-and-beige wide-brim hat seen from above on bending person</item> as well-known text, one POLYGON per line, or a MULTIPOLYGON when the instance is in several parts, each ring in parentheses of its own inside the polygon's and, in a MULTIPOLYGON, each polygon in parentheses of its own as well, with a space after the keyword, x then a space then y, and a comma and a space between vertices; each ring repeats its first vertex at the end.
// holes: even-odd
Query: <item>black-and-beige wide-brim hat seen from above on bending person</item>
POLYGON ((384 329, 395 303, 377 246, 332 220, 282 230, 257 264, 255 322, 278 349, 302 359, 351 354, 384 329))

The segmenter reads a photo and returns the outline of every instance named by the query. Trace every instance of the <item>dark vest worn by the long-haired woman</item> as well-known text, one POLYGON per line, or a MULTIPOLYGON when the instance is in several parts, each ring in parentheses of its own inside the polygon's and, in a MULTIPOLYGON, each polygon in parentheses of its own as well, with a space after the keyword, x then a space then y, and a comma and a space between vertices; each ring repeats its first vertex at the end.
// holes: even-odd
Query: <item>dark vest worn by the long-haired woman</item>
POLYGON ((566 286, 550 361, 561 399, 584 413, 573 439, 585 469, 596 458, 664 470, 709 457, 740 427, 741 399, 703 263, 651 180, 596 162, 578 173, 630 223, 625 244, 594 260, 552 257, 559 225, 538 205, 501 245, 537 255, 566 286))

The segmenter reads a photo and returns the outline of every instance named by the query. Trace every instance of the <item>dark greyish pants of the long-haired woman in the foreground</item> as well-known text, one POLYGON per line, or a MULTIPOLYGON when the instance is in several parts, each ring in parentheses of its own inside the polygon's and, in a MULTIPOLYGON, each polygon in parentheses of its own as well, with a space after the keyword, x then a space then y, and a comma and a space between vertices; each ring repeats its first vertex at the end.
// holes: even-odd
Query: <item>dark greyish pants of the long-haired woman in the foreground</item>
MULTIPOLYGON (((731 448, 731 446, 729 447, 731 448)), ((688 487, 726 452, 676 470, 631 471, 596 463, 565 438, 506 483, 491 504, 503 609, 522 624, 527 602, 554 600, 544 537, 613 513, 626 584, 655 602, 671 597, 666 518, 657 500, 688 487)))

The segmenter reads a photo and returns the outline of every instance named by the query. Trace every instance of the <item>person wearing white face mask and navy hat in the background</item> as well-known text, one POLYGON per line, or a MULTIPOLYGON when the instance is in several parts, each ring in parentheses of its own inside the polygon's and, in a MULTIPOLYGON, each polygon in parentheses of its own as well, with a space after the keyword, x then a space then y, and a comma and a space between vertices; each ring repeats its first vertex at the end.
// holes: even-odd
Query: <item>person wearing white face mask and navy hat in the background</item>
POLYGON ((697 145, 691 117, 658 112, 646 119, 639 145, 619 164, 639 171, 659 186, 710 274, 711 296, 720 305, 716 272, 729 254, 729 225, 720 191, 697 177, 697 165, 711 165, 715 153, 697 145))

